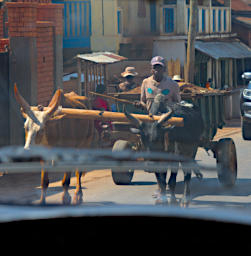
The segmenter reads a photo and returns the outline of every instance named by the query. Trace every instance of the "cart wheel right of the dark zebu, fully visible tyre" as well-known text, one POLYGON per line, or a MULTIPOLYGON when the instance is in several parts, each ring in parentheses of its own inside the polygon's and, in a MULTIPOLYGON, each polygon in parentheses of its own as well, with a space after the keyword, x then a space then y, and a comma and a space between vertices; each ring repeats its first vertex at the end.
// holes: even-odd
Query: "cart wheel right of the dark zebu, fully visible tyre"
POLYGON ((218 141, 216 160, 220 183, 224 186, 232 187, 237 177, 237 157, 235 144, 231 138, 218 141))

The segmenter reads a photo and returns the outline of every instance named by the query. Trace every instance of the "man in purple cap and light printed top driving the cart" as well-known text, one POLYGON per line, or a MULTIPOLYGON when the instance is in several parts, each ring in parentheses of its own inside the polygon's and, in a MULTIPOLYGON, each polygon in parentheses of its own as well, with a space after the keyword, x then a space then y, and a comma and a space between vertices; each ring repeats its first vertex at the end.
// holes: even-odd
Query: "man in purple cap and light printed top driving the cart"
POLYGON ((135 102, 135 105, 145 108, 149 112, 157 94, 164 95, 165 100, 170 103, 180 102, 179 85, 170 77, 164 75, 166 70, 165 59, 161 56, 155 56, 151 60, 151 66, 152 76, 143 80, 140 101, 135 102))

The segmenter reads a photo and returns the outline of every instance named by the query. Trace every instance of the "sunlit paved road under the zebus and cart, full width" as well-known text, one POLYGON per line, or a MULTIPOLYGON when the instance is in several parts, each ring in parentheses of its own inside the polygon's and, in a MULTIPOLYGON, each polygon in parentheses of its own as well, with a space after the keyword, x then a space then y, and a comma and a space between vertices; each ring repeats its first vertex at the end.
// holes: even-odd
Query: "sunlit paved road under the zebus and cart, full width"
MULTIPOLYGON (((191 182, 192 202, 190 207, 214 208, 236 207, 251 211, 251 141, 244 141, 239 127, 226 127, 220 130, 216 139, 231 137, 237 147, 238 180, 232 189, 222 187, 216 173, 204 173, 200 182, 193 176, 191 182)), ((208 156, 205 150, 200 149, 197 159, 201 163, 215 164, 215 159, 208 156)), ((50 175, 50 187, 47 202, 60 202, 62 187, 60 178, 62 175, 50 175)), ((179 173, 177 179, 177 198, 181 198, 183 192, 183 173, 179 173)), ((70 194, 74 195, 76 180, 71 180, 70 194)), ((136 171, 132 184, 129 186, 117 186, 113 183, 109 170, 94 171, 82 178, 84 203, 87 205, 113 205, 113 204, 147 204, 153 205, 152 194, 157 189, 154 174, 136 171)), ((0 177, 0 200, 23 202, 38 202, 40 197, 40 175, 19 174, 4 175, 0 177)))

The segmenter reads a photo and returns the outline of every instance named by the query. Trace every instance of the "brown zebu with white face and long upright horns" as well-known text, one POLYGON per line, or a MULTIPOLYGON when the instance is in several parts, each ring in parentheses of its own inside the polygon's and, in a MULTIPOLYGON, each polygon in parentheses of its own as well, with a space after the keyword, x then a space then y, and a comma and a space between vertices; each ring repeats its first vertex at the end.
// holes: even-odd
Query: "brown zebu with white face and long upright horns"
MULTIPOLYGON (((21 106, 21 113, 26 119, 25 128, 25 149, 29 149, 31 145, 43 145, 53 147, 73 147, 73 148, 90 148, 96 139, 93 120, 83 119, 66 119, 63 116, 54 118, 55 111, 58 106, 65 108, 89 109, 88 99, 84 96, 78 96, 71 92, 63 94, 62 90, 57 90, 44 110, 42 106, 38 106, 37 110, 31 109, 26 100, 19 93, 17 86, 14 87, 15 97, 21 106)), ((76 171, 77 185, 75 191, 75 202, 82 201, 82 188, 80 170, 76 171)), ((68 192, 70 185, 71 173, 64 173, 62 180, 64 204, 71 202, 68 192)), ((49 186, 48 172, 41 172, 41 204, 45 203, 46 191, 49 186)))

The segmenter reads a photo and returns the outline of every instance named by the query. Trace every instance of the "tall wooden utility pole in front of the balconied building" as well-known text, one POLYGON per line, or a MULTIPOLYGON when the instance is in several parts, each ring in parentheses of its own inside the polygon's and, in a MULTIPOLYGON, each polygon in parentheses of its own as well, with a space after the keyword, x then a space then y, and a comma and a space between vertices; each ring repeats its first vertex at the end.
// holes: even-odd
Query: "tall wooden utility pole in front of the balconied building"
POLYGON ((195 39, 197 31, 198 0, 190 0, 189 31, 187 38, 187 63, 185 70, 185 82, 194 82, 195 65, 195 39))

